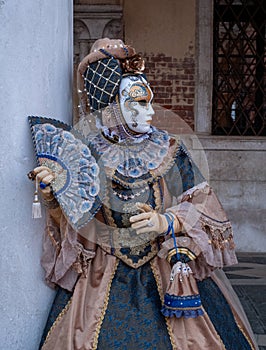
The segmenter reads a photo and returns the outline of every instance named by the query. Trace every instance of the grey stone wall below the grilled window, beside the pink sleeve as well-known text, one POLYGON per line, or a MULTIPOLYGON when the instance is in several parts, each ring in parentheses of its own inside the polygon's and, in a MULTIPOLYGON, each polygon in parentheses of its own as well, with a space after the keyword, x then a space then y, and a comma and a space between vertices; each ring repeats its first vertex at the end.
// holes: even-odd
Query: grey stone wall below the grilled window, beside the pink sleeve
POLYGON ((200 141, 210 183, 233 224, 237 251, 265 252, 265 140, 202 136, 200 141))

